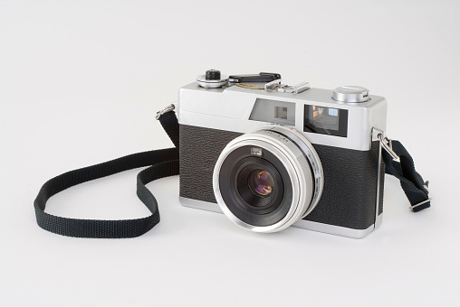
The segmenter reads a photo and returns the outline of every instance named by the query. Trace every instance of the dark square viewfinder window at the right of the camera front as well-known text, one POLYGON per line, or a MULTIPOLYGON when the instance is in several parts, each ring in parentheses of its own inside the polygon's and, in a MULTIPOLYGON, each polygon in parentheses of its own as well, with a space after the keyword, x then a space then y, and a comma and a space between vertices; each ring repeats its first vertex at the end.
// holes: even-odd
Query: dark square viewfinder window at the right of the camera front
POLYGON ((348 117, 348 110, 305 105, 303 131, 347 137, 348 117))

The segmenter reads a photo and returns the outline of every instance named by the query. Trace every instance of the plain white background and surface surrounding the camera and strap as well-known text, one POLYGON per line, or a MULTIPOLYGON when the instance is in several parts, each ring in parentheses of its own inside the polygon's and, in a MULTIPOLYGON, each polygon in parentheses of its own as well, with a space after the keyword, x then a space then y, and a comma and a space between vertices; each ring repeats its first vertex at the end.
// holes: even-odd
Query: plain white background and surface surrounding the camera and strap
MULTIPOLYGON (((0 304, 452 306, 460 304, 458 1, 0 1, 0 304), (412 213, 387 176, 381 228, 361 240, 264 235, 181 207, 155 181, 142 237, 62 237, 35 223, 44 181, 171 146, 155 112, 206 69, 274 71, 388 100, 388 135, 429 180, 412 213)), ((64 191, 65 217, 146 216, 137 171, 64 191)))

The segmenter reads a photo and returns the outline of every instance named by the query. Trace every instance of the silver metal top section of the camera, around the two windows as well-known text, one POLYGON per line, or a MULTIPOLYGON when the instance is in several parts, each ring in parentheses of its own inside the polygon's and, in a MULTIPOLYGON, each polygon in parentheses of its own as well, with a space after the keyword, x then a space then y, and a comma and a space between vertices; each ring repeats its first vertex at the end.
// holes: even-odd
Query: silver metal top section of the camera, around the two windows
POLYGON ((332 90, 321 88, 311 88, 293 95, 236 86, 210 90, 199 87, 196 82, 193 82, 179 89, 177 118, 181 125, 244 134, 264 125, 264 122, 248 120, 254 110, 255 101, 257 99, 278 100, 295 104, 295 128, 305 135, 311 144, 369 151, 369 135, 372 127, 379 127, 383 131, 386 129, 387 102, 385 98, 371 96, 368 102, 355 106, 350 103, 337 102, 331 96, 332 90), (305 104, 348 110, 347 137, 304 132, 305 104))

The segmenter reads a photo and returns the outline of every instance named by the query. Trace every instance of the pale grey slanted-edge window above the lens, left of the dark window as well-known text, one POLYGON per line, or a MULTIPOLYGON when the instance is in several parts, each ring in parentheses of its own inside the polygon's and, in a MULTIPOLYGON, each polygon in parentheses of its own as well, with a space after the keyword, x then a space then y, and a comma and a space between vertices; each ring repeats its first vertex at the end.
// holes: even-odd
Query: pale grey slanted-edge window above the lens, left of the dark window
POLYGON ((257 98, 249 119, 295 126, 295 104, 286 101, 257 98))

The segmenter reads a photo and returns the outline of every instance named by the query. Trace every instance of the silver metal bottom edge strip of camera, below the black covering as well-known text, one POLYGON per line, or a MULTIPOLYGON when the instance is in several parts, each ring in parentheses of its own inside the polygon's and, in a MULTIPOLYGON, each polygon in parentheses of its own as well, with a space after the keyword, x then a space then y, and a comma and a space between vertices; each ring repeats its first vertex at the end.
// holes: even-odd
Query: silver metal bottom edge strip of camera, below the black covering
MULTIPOLYGON (((179 197, 179 202, 182 206, 185 206, 188 208, 202 209, 202 210, 217 212, 217 213, 224 213, 222 212, 222 209, 219 207, 219 205, 217 205, 214 202, 207 202, 203 200, 192 200, 192 199, 187 199, 185 197, 179 197)), ((340 226, 335 226, 335 225, 322 224, 322 223, 313 222, 311 220, 304 220, 304 219, 301 219, 298 222, 292 224, 292 227, 323 232, 323 233, 340 236, 340 237, 362 238, 362 237, 368 236, 369 233, 371 233, 375 228, 379 227, 379 225, 381 224, 381 216, 382 215, 379 215, 379 219, 376 221, 375 226, 370 225, 369 228, 366 228, 366 229, 345 228, 345 227, 340 227, 340 226)))

